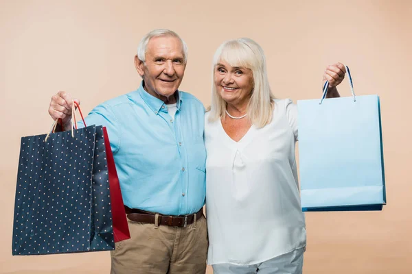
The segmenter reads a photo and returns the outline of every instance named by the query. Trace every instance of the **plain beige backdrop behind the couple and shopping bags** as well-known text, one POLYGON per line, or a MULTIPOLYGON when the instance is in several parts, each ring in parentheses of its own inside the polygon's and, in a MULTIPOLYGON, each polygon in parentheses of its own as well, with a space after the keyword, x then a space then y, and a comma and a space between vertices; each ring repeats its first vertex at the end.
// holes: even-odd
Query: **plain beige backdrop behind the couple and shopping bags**
MULTIPOLYGON (((43 134, 50 97, 67 90, 83 112, 137 88, 146 32, 165 27, 189 47, 182 90, 210 102, 211 58, 247 36, 262 45, 279 98, 319 98, 323 69, 350 66, 358 95, 381 100, 388 205, 382 212, 306 214, 304 273, 412 273, 411 1, 0 0, 0 273, 108 273, 109 253, 12 257, 21 136, 43 134)), ((349 96, 347 82, 340 87, 349 96)))

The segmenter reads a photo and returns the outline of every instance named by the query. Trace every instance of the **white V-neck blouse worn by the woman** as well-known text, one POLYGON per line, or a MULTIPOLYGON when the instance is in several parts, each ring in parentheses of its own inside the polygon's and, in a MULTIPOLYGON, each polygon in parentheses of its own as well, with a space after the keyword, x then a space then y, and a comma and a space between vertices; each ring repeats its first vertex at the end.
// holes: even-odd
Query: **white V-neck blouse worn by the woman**
POLYGON ((257 264, 306 246, 295 142, 297 106, 275 100, 273 119, 236 142, 205 116, 208 264, 257 264))

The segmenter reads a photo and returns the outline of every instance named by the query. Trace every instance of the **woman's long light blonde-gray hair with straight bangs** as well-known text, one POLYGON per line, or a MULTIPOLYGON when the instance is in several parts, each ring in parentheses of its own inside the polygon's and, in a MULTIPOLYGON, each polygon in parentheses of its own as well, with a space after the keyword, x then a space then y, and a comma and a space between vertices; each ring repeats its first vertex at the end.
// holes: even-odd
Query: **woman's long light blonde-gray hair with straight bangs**
POLYGON ((216 65, 227 62, 231 66, 250 69, 253 73, 253 89, 247 105, 247 117, 256 127, 264 127, 272 121, 275 97, 269 86, 266 71, 266 58, 262 47, 249 38, 239 38, 223 42, 213 59, 211 106, 209 121, 225 119, 226 105, 214 84, 216 65))

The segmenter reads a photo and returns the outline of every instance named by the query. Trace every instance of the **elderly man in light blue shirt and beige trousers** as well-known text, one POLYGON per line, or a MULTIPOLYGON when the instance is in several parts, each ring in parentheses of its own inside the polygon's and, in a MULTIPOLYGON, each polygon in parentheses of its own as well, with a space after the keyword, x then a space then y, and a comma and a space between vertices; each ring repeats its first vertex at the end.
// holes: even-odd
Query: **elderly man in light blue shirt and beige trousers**
MULTIPOLYGON (((139 88, 86 118, 107 127, 128 213, 131 239, 116 243, 111 273, 205 273, 205 110, 178 90, 186 62, 187 46, 176 33, 149 32, 135 56, 139 88)), ((71 105, 67 92, 50 103, 49 114, 65 129, 71 105)))

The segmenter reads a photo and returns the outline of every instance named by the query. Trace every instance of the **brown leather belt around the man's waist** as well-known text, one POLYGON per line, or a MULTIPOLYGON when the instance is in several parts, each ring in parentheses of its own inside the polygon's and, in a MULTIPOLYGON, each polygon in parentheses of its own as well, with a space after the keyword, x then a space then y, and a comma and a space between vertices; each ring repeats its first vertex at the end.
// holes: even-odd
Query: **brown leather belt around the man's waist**
MULTIPOLYGON (((127 218, 130 221, 155 224, 156 213, 154 212, 138 210, 135 208, 128 208, 127 206, 124 206, 124 209, 126 210, 127 218)), ((195 215, 196 220, 201 219, 203 216, 203 208, 201 208, 201 210, 199 210, 195 214, 190 215, 171 216, 159 214, 157 225, 168 225, 170 227, 186 227, 187 225, 193 223, 195 215)))

